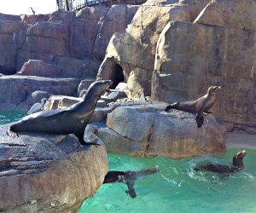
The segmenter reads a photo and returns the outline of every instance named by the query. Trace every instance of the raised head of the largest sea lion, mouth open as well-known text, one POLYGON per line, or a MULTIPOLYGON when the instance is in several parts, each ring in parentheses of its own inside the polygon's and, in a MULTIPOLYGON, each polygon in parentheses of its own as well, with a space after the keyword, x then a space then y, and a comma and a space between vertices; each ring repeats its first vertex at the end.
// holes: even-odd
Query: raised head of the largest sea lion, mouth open
POLYGON ((112 85, 111 80, 102 80, 102 81, 96 81, 94 83, 90 84, 90 87, 88 89, 88 92, 95 96, 96 98, 100 99, 101 95, 106 92, 109 86, 112 85))

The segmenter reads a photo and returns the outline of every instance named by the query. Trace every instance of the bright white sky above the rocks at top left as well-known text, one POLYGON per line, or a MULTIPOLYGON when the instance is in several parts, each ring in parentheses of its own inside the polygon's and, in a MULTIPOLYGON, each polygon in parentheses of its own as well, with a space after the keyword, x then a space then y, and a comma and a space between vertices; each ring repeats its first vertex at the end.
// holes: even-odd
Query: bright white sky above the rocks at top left
POLYGON ((57 9, 56 0, 0 0, 2 14, 49 14, 57 9))

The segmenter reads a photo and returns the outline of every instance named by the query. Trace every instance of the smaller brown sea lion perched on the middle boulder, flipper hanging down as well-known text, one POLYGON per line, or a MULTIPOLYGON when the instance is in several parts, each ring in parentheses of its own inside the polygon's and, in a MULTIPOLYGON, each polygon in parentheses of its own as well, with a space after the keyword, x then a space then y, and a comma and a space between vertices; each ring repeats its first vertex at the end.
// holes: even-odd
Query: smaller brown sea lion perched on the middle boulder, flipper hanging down
POLYGON ((219 86, 209 87, 207 90, 207 94, 203 95, 199 99, 195 101, 178 101, 168 105, 165 109, 168 112, 170 109, 177 109, 184 112, 196 113, 196 124, 198 128, 201 128, 201 125, 204 123, 203 113, 211 113, 209 109, 216 102, 216 92, 218 89, 221 89, 219 86))

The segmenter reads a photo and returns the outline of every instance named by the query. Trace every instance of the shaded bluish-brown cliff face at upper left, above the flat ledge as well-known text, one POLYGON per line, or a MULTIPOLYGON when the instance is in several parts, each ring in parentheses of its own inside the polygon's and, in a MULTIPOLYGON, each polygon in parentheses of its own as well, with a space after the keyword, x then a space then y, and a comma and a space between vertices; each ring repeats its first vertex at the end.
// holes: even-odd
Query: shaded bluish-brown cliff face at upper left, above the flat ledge
MULTIPOLYGON (((97 6, 75 12, 40 15, 0 15, 0 72, 14 74, 29 59, 55 63, 66 55, 70 63, 104 58, 113 32, 124 32, 138 6, 97 6)), ((61 69, 68 65, 59 63, 61 69)), ((94 77, 96 77, 97 68, 94 77)), ((73 67, 70 67, 73 68, 73 67)), ((89 67, 79 66, 86 70, 89 67)))

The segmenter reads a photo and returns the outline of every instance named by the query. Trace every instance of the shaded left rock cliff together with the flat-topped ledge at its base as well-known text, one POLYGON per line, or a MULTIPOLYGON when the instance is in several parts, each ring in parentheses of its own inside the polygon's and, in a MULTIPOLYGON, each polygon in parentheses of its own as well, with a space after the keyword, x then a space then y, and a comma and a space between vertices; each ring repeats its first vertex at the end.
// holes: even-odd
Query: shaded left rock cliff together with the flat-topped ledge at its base
POLYGON ((26 96, 36 90, 51 95, 78 95, 86 91, 88 87, 84 87, 84 83, 79 86, 79 81, 96 79, 110 37, 113 32, 125 32, 138 7, 114 5, 109 9, 96 6, 78 13, 56 11, 45 15, 0 14, 0 72, 9 75, 20 70, 14 78, 1 78, 0 105, 20 108, 20 101, 28 103, 26 96), (61 78, 74 79, 64 86, 67 79, 61 78), (45 84, 49 81, 52 83, 47 89, 45 84), (79 91, 74 87, 79 87, 79 91), (13 92, 18 97, 13 97, 13 92))

